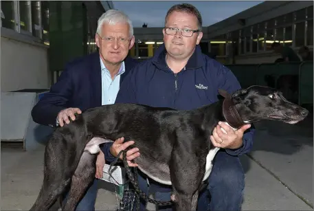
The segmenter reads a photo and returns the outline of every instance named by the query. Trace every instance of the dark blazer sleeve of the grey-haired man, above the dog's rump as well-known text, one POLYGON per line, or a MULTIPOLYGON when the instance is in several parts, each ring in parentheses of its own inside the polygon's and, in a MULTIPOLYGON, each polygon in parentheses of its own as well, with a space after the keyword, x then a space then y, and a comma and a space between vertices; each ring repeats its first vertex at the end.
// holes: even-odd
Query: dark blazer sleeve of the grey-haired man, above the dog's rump
POLYGON ((56 126, 58 113, 67 108, 67 102, 73 91, 71 70, 65 67, 58 81, 52 85, 48 93, 37 102, 32 109, 34 122, 43 125, 56 126))

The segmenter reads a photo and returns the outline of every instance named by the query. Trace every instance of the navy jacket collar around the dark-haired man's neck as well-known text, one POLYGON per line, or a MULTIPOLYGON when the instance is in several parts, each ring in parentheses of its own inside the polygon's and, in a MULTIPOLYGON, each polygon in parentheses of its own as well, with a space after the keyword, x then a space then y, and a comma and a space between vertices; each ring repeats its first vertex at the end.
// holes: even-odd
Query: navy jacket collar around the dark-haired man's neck
MULTIPOLYGON (((153 64, 157 66, 157 68, 166 70, 168 69, 168 65, 166 63, 166 47, 164 43, 159 45, 158 49, 155 52, 152 60, 153 64)), ((203 54, 201 52, 201 47, 197 45, 195 47, 194 53, 188 60, 186 64, 186 69, 198 69, 205 66, 205 61, 203 60, 203 54)))

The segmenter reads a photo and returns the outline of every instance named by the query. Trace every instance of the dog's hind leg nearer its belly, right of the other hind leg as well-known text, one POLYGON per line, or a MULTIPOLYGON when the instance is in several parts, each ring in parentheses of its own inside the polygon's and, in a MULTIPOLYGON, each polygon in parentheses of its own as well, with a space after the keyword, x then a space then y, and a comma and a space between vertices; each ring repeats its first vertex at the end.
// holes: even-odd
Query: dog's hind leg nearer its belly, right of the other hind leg
POLYGON ((78 168, 71 180, 71 188, 67 197, 67 202, 62 210, 74 211, 79 201, 85 195, 86 190, 91 186, 96 174, 96 158, 97 154, 90 154, 85 151, 80 158, 78 168))

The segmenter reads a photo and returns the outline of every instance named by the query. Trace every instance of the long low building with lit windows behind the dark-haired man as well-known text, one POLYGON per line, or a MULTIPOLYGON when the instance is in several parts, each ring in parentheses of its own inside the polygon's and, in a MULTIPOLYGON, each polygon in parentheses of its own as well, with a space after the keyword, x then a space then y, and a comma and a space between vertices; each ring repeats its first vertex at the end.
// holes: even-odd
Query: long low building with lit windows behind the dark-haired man
MULTIPOLYGON (((162 27, 135 27, 137 43, 130 54, 149 58, 163 41, 162 27)), ((204 54, 221 63, 273 63, 280 55, 271 50, 278 41, 298 52, 313 50, 313 1, 265 1, 223 21, 203 27, 204 54)))

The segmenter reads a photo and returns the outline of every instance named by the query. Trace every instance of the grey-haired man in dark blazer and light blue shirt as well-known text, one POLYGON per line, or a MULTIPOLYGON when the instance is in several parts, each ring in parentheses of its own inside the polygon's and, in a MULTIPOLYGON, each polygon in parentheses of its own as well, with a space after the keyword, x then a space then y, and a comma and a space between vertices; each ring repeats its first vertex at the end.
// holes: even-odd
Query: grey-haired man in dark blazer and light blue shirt
MULTIPOLYGON (((120 84, 137 64, 129 58, 128 50, 134 45, 133 26, 126 14, 108 10, 98 20, 96 43, 99 51, 78 58, 65 66, 58 81, 32 109, 32 118, 38 124, 63 126, 75 113, 91 107, 113 104, 120 84)), ((96 178, 102 177, 104 157, 111 162, 117 153, 133 144, 122 139, 104 144, 97 159, 96 178), (110 156, 109 156, 110 155, 110 156)), ((128 160, 139 156, 138 149, 128 151, 128 160)), ((136 166, 129 162, 131 166, 136 166)), ((95 210, 97 181, 89 188, 77 210, 95 210)))

